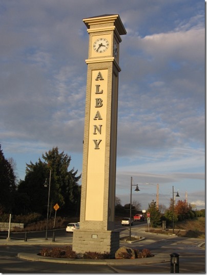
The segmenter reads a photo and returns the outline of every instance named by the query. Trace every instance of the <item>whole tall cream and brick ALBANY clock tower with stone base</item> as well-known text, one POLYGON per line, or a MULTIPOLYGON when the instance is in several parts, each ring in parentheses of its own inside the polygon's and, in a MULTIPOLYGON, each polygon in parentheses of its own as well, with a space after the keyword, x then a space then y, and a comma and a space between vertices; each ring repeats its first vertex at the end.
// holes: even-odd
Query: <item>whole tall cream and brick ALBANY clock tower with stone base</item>
POLYGON ((80 229, 73 232, 73 250, 106 251, 114 257, 119 248, 114 231, 119 43, 127 32, 118 14, 83 21, 89 52, 80 229))

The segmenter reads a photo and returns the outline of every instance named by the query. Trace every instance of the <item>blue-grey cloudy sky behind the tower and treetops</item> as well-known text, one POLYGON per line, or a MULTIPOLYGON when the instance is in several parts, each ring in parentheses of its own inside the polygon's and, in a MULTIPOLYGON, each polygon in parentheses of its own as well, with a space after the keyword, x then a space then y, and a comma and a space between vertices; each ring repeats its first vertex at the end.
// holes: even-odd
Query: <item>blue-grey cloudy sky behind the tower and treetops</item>
MULTIPOLYGON (((82 18, 119 14, 116 196, 205 203, 205 3, 202 0, 1 0, 0 143, 26 163, 58 146, 82 171, 88 58, 82 18), (149 183, 148 185, 146 183, 149 183)), ((81 183, 81 182, 80 182, 81 183)))

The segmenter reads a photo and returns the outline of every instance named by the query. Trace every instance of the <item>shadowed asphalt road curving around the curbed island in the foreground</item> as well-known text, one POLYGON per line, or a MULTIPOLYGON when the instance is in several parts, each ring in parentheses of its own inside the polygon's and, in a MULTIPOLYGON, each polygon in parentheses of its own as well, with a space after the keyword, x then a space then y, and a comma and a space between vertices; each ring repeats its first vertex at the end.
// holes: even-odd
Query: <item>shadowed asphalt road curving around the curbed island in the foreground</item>
MULTIPOLYGON (((153 253, 164 252, 170 259, 172 252, 180 255, 180 273, 205 273, 205 251, 198 245, 204 240, 163 236, 133 228, 133 234, 146 239, 127 244, 132 248, 150 249, 153 253)), ((126 231, 128 233, 128 231, 126 231)), ((11 242, 12 243, 12 242, 11 242)), ((53 243, 55 245, 55 243, 53 243)), ((125 244, 121 244, 125 245, 125 244)), ((48 245, 49 246, 49 245, 48 245)), ((17 253, 38 253, 46 245, 0 245, 0 272, 2 273, 170 273, 170 262, 138 265, 81 265, 31 262, 18 259, 17 253)))

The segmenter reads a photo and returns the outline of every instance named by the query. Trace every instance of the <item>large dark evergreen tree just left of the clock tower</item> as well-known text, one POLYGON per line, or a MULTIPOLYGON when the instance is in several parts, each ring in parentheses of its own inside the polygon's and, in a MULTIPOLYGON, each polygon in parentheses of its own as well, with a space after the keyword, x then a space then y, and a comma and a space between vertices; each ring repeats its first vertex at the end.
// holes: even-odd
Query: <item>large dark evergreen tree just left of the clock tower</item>
POLYGON ((42 160, 35 164, 27 164, 25 181, 19 184, 18 191, 26 193, 30 198, 30 210, 38 213, 46 213, 49 189, 44 183, 50 180, 50 209, 58 203, 63 211, 68 213, 77 210, 80 204, 80 186, 77 184, 81 175, 77 176, 77 170, 68 171, 71 157, 64 152, 59 153, 57 147, 42 155, 42 160), (51 170, 51 179, 50 178, 51 170))

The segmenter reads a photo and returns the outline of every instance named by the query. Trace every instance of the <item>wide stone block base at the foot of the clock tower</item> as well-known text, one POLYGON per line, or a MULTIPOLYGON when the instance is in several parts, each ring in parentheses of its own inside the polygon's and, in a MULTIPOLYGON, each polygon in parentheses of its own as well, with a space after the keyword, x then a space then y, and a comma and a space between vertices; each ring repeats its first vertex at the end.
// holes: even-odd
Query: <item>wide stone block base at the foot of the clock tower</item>
POLYGON ((84 253, 86 251, 108 252, 110 258, 114 258, 118 248, 118 231, 84 231, 79 229, 73 232, 72 249, 76 253, 84 253))

